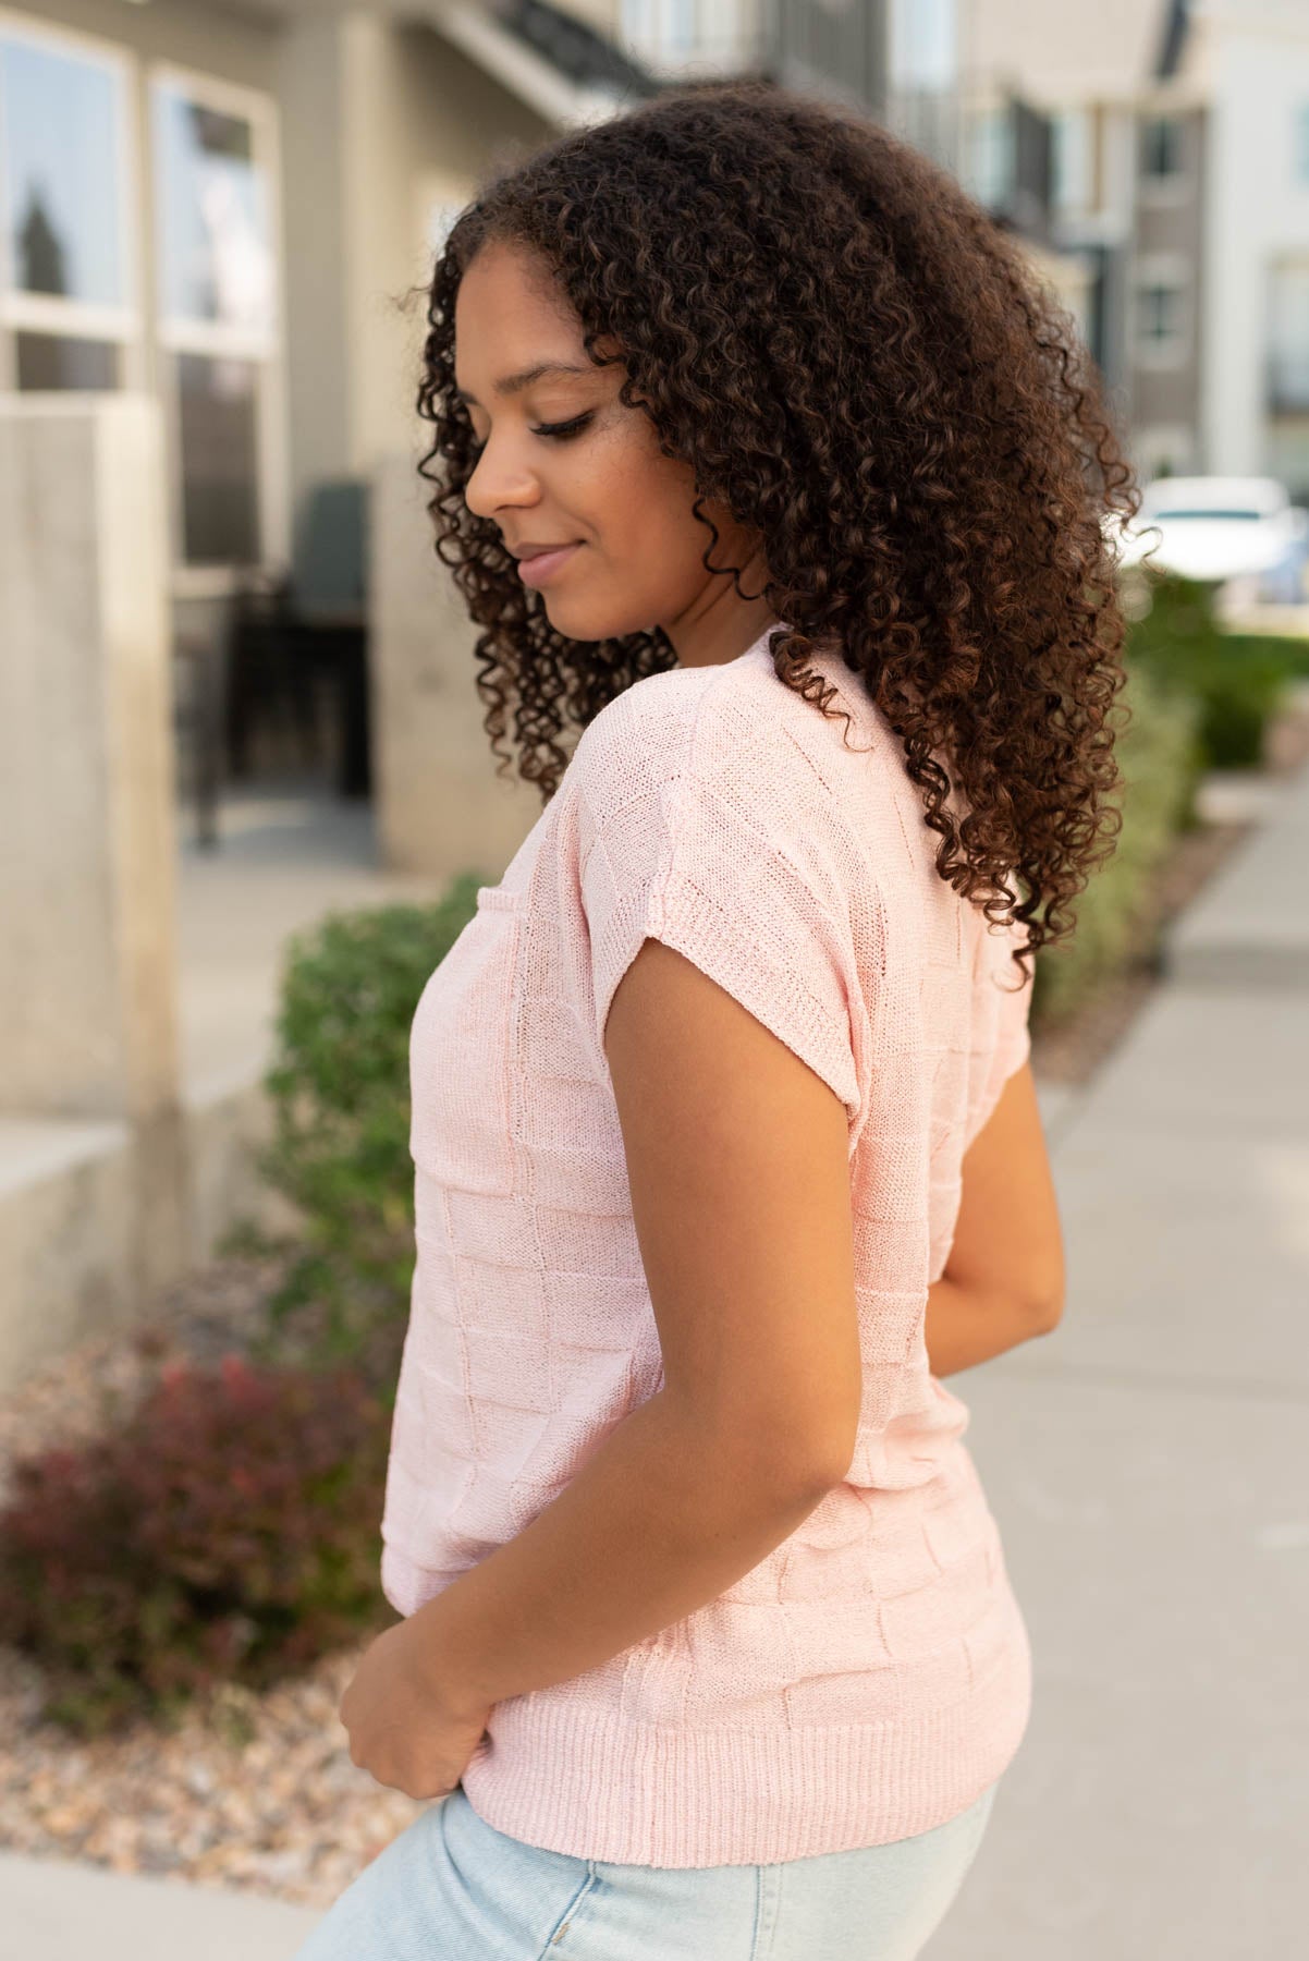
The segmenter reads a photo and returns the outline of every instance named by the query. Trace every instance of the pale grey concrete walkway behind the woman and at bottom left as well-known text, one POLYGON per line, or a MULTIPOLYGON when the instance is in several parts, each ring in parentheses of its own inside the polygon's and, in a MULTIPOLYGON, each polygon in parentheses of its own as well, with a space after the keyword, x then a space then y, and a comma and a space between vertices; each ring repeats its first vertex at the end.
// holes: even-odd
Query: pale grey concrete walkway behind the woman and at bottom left
MULTIPOLYGON (((1042 1088, 1066 1316, 958 1377, 1037 1698, 925 1961, 1301 1943, 1307 859, 1309 769, 1176 924, 1170 979, 1095 1082, 1042 1088)), ((280 1961, 315 1918, 0 1853, 24 1961, 280 1961)))

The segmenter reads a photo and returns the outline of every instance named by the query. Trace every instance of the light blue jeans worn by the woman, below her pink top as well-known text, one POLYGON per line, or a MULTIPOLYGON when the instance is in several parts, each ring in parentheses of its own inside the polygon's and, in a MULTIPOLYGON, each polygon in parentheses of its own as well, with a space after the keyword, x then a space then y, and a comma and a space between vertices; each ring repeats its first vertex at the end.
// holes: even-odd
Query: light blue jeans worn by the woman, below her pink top
POLYGON ((915 1961, 976 1859, 958 1818, 776 1865, 609 1865, 496 1832, 457 1785, 372 1859, 294 1961, 915 1961))

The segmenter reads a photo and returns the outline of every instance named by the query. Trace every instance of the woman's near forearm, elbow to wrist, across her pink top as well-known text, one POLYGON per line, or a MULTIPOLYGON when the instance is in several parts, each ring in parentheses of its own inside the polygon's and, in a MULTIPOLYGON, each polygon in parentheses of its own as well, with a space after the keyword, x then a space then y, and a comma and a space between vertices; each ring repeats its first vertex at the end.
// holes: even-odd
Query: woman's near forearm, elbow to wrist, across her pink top
POLYGON ((825 1484, 747 1471, 658 1390, 513 1539, 412 1616, 443 1694, 549 1688, 696 1612, 790 1537, 825 1484))

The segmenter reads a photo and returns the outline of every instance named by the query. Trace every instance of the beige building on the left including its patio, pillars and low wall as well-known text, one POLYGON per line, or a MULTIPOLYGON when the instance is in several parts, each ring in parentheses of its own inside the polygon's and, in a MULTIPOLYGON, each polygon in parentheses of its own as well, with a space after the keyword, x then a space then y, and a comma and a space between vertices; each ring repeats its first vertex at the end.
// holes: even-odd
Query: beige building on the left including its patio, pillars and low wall
POLYGON ((488 167, 654 86, 539 0, 0 12, 0 1383, 265 1208, 288 931, 535 816, 425 535, 421 298, 488 167))

